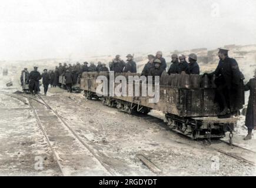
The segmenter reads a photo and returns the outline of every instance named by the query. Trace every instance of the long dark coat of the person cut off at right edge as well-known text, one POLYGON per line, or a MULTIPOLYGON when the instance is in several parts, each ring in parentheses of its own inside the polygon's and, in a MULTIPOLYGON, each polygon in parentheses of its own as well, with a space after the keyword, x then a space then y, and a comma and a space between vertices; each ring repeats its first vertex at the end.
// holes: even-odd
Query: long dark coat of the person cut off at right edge
POLYGON ((254 127, 256 127, 256 78, 250 79, 250 81, 244 86, 244 90, 250 90, 245 116, 245 126, 247 126, 248 129, 254 129, 254 127))

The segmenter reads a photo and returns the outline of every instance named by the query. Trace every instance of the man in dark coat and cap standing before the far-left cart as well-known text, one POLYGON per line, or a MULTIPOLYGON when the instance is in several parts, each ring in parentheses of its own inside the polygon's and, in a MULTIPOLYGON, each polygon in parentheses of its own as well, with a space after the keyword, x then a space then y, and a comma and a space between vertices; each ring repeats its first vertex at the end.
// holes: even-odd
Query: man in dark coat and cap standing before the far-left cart
POLYGON ((42 78, 41 74, 37 71, 38 67, 34 66, 34 70, 32 70, 29 75, 29 90, 32 95, 38 94, 40 92, 39 88, 39 80, 42 78))

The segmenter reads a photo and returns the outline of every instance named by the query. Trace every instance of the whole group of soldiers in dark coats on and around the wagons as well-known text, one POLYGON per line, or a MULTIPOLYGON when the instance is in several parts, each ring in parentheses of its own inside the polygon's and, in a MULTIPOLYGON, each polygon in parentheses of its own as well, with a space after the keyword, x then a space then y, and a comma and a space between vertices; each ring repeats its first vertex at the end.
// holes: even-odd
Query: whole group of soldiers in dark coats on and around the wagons
MULTIPOLYGON (((220 115, 224 117, 230 117, 231 114, 238 112, 244 104, 244 90, 250 90, 250 100, 248 103, 247 115, 245 125, 248 127, 248 135, 245 140, 251 139, 252 129, 256 127, 256 71, 255 76, 247 85, 244 85, 244 75, 238 67, 237 61, 228 56, 227 49, 220 49, 218 52, 220 62, 217 68, 212 73, 204 73, 202 76, 208 76, 212 78, 215 76, 215 84, 217 85, 217 93, 215 96, 216 102, 219 103, 221 108, 220 115)), ((172 54, 171 66, 167 73, 170 74, 200 74, 200 67, 197 63, 197 55, 191 53, 188 55, 188 62, 185 55, 172 54)), ((148 55, 148 63, 144 66, 141 75, 144 76, 161 76, 162 72, 166 71, 167 63, 162 57, 162 52, 158 51, 156 55, 148 55)), ((127 62, 121 59, 120 55, 115 56, 111 62, 109 62, 109 69, 105 63, 98 62, 95 66, 94 63, 84 62, 84 65, 80 65, 79 62, 74 65, 67 65, 67 63, 59 63, 55 70, 44 69, 42 75, 37 71, 37 67, 34 67, 32 72, 28 72, 26 68, 22 70, 22 75, 25 72, 26 82, 29 83, 29 90, 31 93, 38 93, 39 80, 42 79, 44 85, 44 93, 48 90, 48 85, 52 87, 59 86, 59 76, 65 77, 65 83, 69 92, 72 92, 72 85, 78 83, 79 76, 83 72, 108 72, 109 70, 116 73, 131 72, 137 73, 137 65, 134 62, 134 57, 131 54, 127 55, 127 62)), ((21 83, 23 84, 24 76, 21 76, 21 83)))

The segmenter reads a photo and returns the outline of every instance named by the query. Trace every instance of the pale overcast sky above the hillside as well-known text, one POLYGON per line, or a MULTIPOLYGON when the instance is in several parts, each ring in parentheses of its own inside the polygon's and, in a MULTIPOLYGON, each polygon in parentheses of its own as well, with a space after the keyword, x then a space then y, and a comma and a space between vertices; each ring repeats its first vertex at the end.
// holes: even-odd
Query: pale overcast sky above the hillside
POLYGON ((255 0, 2 0, 0 59, 256 43, 255 0))

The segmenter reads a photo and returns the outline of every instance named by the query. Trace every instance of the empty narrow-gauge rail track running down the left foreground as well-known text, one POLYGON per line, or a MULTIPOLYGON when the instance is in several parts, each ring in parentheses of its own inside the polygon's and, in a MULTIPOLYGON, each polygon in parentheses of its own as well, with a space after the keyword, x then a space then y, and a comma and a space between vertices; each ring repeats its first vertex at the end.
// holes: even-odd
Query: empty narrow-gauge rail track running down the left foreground
MULTIPOLYGON (((34 116, 36 118, 36 121, 38 122, 38 125, 39 125, 40 129, 42 130, 42 133, 46 139, 46 142, 48 143, 48 146, 50 147, 52 154, 54 155, 54 158, 56 160, 56 163, 58 164, 59 169, 61 170, 61 173, 63 176, 84 175, 83 172, 88 172, 87 175, 90 175, 90 170, 92 170, 92 171, 95 170, 95 172, 92 173, 93 175, 100 175, 100 176, 109 176, 109 175, 115 176, 116 175, 115 172, 112 172, 112 170, 109 169, 109 167, 106 164, 101 162, 101 160, 94 153, 94 151, 77 135, 77 133, 74 132, 74 130, 71 129, 70 126, 68 126, 68 124, 64 121, 64 119, 61 116, 59 116, 58 113, 56 113, 51 108, 51 106, 49 106, 45 102, 45 100, 41 96, 37 95, 37 98, 36 97, 34 98, 32 96, 26 96, 26 95, 17 95, 16 96, 11 93, 4 93, 4 94, 8 95, 12 98, 18 99, 21 102, 24 102, 26 105, 29 105, 29 107, 32 109, 34 116), (20 98, 19 96, 22 96, 23 98, 26 98, 27 100, 24 100, 24 99, 20 98), (38 104, 39 104, 39 106, 41 106, 40 108, 36 108, 36 106, 38 106, 38 104), (44 106, 45 108, 42 108, 42 106, 44 106), (57 132, 63 133, 63 132, 67 132, 67 130, 68 130, 68 132, 70 134, 55 135, 56 137, 54 135, 52 135, 51 127, 53 127, 52 130, 56 129, 56 127, 54 128, 55 125, 52 125, 52 124, 47 126, 45 123, 44 116, 42 116, 42 114, 46 114, 51 117, 55 116, 55 119, 58 119, 61 122, 61 123, 58 123, 58 125, 61 125, 62 129, 64 128, 63 131, 57 130, 57 132), (67 146, 67 145, 65 146, 62 143, 59 143, 58 140, 55 140, 58 137, 62 137, 62 139, 66 138, 66 140, 71 140, 75 149, 72 150, 72 146, 67 146), (77 152, 77 150, 79 149, 79 147, 78 147, 79 145, 84 148, 80 152, 77 152), (63 153, 63 151, 61 149, 63 149, 64 147, 68 147, 71 150, 68 150, 68 152, 66 151, 63 153), (79 161, 77 161, 76 155, 78 155, 80 157, 80 159, 82 160, 81 164, 78 164, 79 161), (74 160, 74 161, 72 161, 72 160, 74 160), (74 166, 72 164, 74 164, 74 166), (88 166, 90 167, 90 170, 88 170, 88 166)), ((59 129, 59 128, 60 127, 58 127, 57 129, 59 129)), ((55 132, 55 133, 57 133, 57 132, 55 132)), ((87 139, 87 138, 85 137, 85 139, 87 139)), ((65 142, 65 140, 63 140, 63 142, 65 142)))

